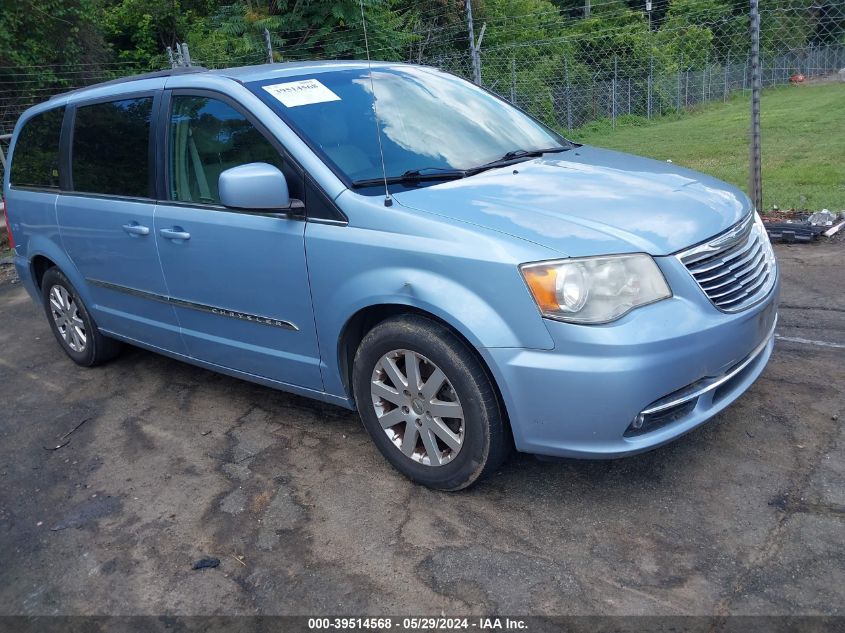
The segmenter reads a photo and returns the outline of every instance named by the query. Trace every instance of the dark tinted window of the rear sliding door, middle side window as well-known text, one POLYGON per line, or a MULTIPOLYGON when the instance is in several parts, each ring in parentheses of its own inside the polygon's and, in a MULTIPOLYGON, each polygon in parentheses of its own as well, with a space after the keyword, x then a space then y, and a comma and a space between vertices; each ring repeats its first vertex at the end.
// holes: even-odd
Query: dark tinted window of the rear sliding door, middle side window
POLYGON ((76 110, 72 174, 75 191, 150 196, 153 98, 123 99, 76 110))

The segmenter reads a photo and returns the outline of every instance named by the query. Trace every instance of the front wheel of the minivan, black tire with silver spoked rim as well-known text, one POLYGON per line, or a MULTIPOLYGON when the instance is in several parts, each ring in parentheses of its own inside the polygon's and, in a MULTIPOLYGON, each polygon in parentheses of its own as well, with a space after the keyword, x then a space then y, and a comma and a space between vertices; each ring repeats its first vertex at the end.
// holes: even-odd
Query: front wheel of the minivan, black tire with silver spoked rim
POLYGON ((485 368, 437 321, 403 315, 376 325, 355 354, 352 382, 373 442, 412 481, 460 490, 495 470, 511 451, 485 368), (412 389, 415 365, 419 379, 412 389))

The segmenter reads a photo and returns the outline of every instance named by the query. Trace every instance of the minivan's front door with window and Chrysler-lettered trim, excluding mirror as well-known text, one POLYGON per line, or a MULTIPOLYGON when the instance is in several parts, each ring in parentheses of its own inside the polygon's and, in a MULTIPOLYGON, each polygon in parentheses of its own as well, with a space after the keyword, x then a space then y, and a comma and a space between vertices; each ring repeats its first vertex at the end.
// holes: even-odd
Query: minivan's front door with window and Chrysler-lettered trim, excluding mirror
POLYGON ((168 201, 155 239, 189 354, 322 390, 305 264, 304 216, 223 207, 220 174, 264 162, 302 196, 302 174, 234 102, 175 92, 167 121, 168 201))

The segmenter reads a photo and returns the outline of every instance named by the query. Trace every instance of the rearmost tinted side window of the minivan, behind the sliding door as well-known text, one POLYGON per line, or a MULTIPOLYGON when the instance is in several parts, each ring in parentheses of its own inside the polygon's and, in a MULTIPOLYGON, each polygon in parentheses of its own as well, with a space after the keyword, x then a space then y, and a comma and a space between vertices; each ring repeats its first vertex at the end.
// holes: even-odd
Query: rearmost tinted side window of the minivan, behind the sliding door
POLYGON ((59 137, 64 116, 64 107, 54 108, 24 124, 12 156, 12 186, 59 188, 59 137))

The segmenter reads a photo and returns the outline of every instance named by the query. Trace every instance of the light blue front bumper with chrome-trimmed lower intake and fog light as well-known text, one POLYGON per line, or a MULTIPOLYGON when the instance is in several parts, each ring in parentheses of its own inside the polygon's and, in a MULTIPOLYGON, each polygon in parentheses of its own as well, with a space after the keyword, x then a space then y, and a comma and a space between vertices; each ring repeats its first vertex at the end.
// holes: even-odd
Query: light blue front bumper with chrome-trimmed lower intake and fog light
POLYGON ((716 309, 672 258, 675 295, 603 326, 547 321, 553 350, 488 348, 516 448, 612 458, 690 431, 757 379, 774 347, 780 291, 753 308, 716 309))

